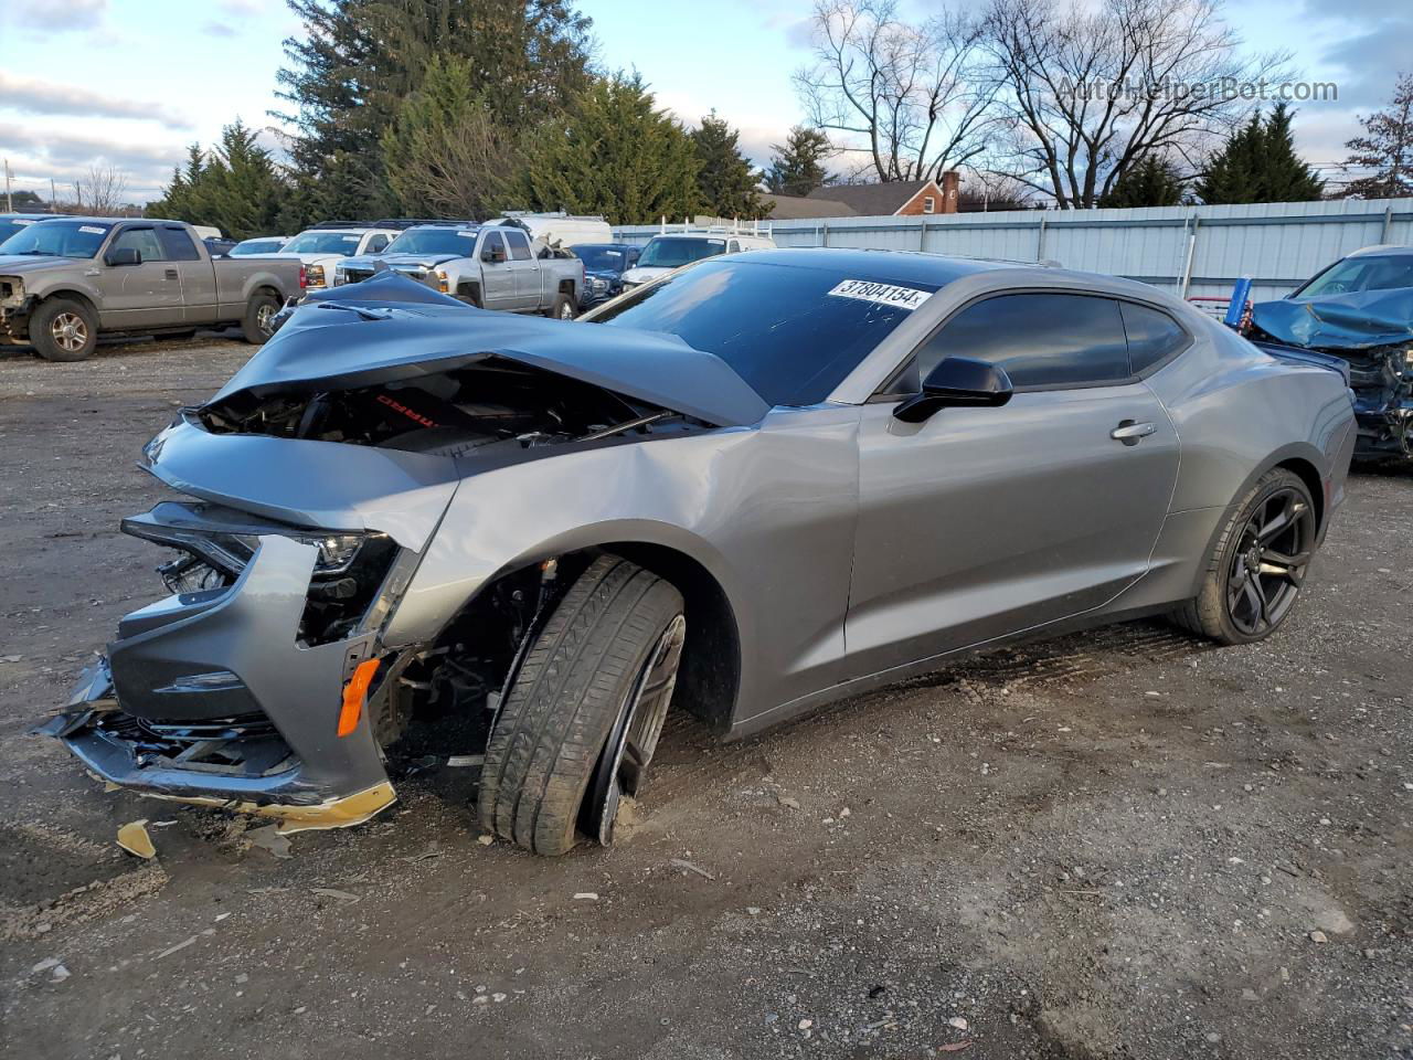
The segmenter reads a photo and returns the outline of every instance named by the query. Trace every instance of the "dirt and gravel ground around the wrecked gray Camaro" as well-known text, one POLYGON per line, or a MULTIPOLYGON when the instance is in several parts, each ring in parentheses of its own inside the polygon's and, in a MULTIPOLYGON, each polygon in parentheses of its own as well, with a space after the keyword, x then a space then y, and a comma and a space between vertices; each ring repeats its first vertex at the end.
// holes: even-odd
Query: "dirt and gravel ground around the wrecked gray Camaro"
POLYGON ((1115 626, 743 743, 675 718, 612 849, 483 844, 442 769, 278 858, 25 735, 161 595, 140 445, 249 353, 0 356, 4 1057, 1413 1056, 1413 473, 1352 478, 1265 644, 1115 626))

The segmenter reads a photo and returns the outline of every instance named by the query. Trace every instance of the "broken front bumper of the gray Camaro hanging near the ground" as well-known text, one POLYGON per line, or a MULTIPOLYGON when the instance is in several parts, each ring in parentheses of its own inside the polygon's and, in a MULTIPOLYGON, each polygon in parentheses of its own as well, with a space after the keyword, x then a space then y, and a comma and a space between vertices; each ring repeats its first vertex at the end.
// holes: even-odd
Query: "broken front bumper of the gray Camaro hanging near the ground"
POLYGON ((360 541, 349 557, 341 536, 324 548, 292 527, 179 503, 123 529, 179 550, 162 568, 178 591, 120 620, 109 656, 40 732, 109 783, 285 830, 357 824, 391 804, 369 711, 362 700, 350 711, 345 693, 360 664, 365 676, 376 666, 372 626, 398 565, 390 543, 360 541))

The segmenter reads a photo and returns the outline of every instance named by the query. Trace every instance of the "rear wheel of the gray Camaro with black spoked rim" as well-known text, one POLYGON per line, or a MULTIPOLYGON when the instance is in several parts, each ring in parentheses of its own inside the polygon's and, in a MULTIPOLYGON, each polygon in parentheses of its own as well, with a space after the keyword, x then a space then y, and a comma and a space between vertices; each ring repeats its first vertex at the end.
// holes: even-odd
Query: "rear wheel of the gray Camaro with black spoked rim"
POLYGON ((1217 538, 1201 592, 1174 612, 1174 620, 1219 644, 1265 640, 1300 595, 1316 534, 1316 506, 1304 481, 1284 468, 1266 472, 1217 538))

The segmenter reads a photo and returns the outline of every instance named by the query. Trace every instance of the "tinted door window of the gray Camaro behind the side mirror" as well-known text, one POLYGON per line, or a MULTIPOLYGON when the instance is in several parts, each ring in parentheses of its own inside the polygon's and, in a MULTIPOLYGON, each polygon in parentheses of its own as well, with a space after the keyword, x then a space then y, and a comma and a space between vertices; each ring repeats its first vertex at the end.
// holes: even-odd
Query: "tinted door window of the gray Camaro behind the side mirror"
POLYGON ((1119 304, 1078 294, 1003 294, 968 305, 918 351, 920 376, 950 356, 1000 365, 1017 389, 1132 375, 1119 304))

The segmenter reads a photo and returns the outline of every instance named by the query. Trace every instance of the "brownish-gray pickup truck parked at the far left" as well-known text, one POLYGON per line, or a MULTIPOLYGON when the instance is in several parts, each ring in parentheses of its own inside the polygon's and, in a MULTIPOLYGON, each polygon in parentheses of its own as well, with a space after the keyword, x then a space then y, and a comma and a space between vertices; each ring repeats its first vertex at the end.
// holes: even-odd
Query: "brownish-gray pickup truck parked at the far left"
POLYGON ((261 343, 302 291, 298 260, 212 260, 179 220, 51 218, 0 245, 0 342, 47 360, 82 360, 99 335, 239 326, 261 343))

